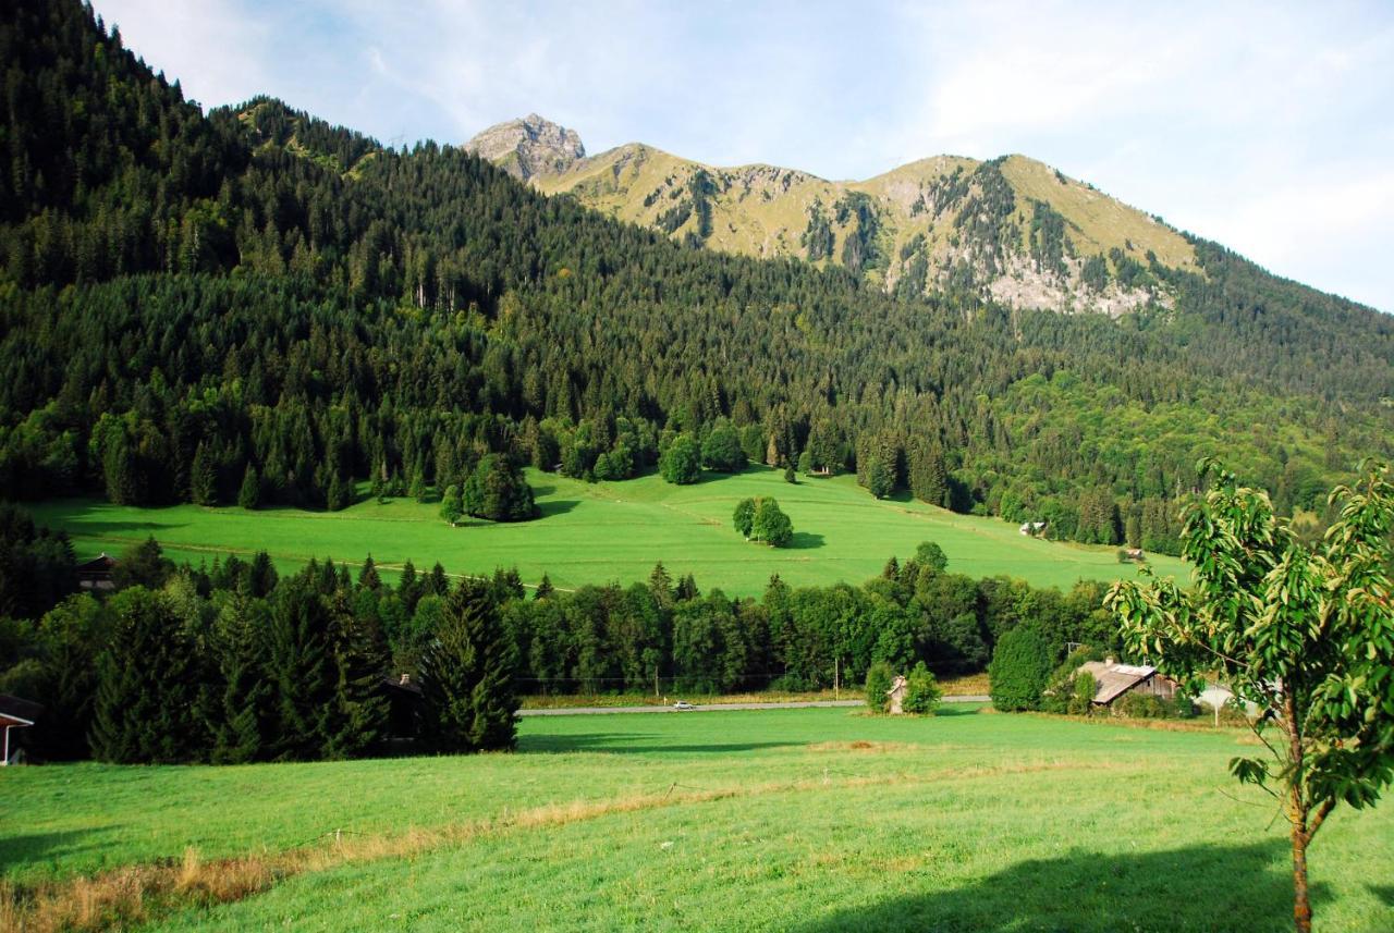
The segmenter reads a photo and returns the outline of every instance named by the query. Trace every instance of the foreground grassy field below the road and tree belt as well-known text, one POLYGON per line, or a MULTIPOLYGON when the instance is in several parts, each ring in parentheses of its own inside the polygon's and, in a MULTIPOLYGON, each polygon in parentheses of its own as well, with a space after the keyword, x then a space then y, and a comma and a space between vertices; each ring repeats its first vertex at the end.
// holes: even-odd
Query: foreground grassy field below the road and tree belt
MULTIPOLYGON (((1289 929, 1285 826, 1225 773, 1248 741, 815 709, 531 719, 516 755, 8 769, 0 866, 289 866, 146 918, 169 930, 1289 929)), ((1312 870, 1319 929, 1394 929, 1394 810, 1338 810, 1312 870)))

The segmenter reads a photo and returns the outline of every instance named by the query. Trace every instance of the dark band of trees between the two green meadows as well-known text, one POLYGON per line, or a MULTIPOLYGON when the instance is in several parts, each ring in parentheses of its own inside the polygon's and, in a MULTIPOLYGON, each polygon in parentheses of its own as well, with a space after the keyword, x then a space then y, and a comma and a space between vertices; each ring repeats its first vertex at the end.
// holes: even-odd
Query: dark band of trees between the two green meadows
MULTIPOLYGON (((6 539, 0 568, 25 540, 47 539, 6 539)), ((1061 650, 1117 643, 1101 583, 974 581, 931 543, 861 586, 772 577, 760 599, 733 599, 661 564, 629 586, 563 592, 544 578, 530 595, 516 571, 452 581, 439 564, 408 563, 390 585, 371 557, 289 577, 265 553, 174 567, 153 539, 123 554, 114 592, 74 592, 71 547, 52 540, 67 549, 64 585, 31 616, 0 617, 0 692, 45 705, 26 741, 50 759, 507 748, 521 693, 821 689, 874 664, 974 673, 1026 620, 1061 650)), ((0 586, 6 606, 24 604, 22 578, 0 586)))

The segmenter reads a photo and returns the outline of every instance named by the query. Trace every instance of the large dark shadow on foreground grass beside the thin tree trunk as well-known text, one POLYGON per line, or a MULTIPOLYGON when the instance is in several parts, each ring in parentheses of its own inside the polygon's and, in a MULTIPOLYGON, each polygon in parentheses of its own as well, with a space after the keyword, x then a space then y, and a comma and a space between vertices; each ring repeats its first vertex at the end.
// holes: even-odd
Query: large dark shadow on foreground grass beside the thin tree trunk
MULTIPOLYGON (((1122 827, 1121 827, 1122 830, 1122 827)), ((1005 840, 1004 840, 1005 842, 1005 840)), ((1288 930, 1292 876, 1287 848, 1196 845, 1170 852, 1071 852, 1019 862, 976 884, 931 890, 906 876, 909 893, 848 907, 799 933, 848 930, 1288 930)), ((1326 886, 1312 886, 1320 923, 1326 886)))

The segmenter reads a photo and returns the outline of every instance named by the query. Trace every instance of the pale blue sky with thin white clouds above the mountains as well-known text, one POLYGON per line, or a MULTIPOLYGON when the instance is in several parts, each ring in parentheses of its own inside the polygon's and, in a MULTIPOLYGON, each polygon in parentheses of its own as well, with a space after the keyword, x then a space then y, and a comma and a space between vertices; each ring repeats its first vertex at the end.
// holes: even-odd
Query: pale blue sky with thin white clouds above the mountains
POLYGON ((1394 3, 95 0, 205 107, 867 178, 1023 153, 1394 312, 1394 3))

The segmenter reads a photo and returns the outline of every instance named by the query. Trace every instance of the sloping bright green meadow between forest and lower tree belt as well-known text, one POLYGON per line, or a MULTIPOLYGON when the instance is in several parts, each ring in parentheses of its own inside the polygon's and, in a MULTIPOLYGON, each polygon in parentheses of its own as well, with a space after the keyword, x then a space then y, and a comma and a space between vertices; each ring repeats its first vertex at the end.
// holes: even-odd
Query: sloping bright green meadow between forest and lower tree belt
MULTIPOLYGON (((917 501, 877 501, 852 476, 803 479, 750 468, 736 476, 708 473, 693 486, 671 486, 657 475, 622 483, 583 483, 530 472, 542 518, 516 525, 470 522, 449 528, 438 505, 407 499, 368 500, 342 512, 289 508, 128 508, 64 500, 33 507, 35 518, 72 535, 81 557, 120 551, 153 535, 177 560, 268 550, 283 568, 332 556, 353 564, 371 553, 388 570, 411 560, 435 561, 452 574, 517 567, 535 583, 544 572, 560 588, 647 579, 655 561, 676 577, 691 572, 703 589, 756 596, 771 574, 795 586, 836 581, 861 583, 892 554, 909 557, 923 540, 937 542, 949 570, 973 577, 1005 574, 1039 586, 1069 588, 1076 579, 1111 581, 1136 574, 1117 549, 1023 538, 998 519, 955 515, 917 501), (736 503, 774 496, 795 525, 786 549, 744 542, 730 525, 736 503)), ((1156 557, 1163 574, 1185 577, 1181 561, 1156 557)))

